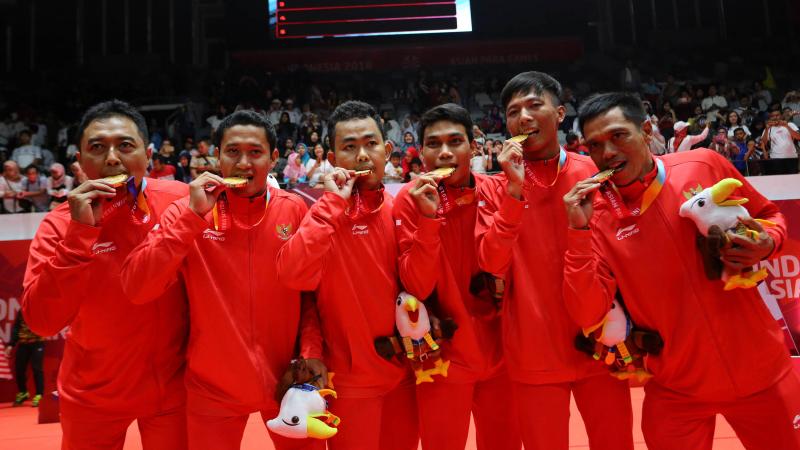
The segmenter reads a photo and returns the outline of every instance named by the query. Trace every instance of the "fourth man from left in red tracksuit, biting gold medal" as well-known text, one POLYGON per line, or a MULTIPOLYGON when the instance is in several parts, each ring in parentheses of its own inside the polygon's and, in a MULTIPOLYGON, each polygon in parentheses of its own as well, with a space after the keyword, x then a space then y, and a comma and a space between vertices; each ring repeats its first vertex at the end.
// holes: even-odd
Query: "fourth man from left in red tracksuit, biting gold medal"
MULTIPOLYGON (((439 180, 423 175, 397 195, 394 218, 400 249, 400 279, 412 295, 435 293, 429 311, 458 326, 442 344, 450 360, 447 378, 417 387, 420 436, 426 449, 460 450, 467 442, 470 412, 478 449, 520 449, 508 374, 503 365, 500 316, 488 295, 471 290, 485 280, 478 268, 474 233, 475 190, 485 175, 470 172, 472 119, 449 103, 422 115, 420 142, 425 167, 455 169, 439 180)), ((484 293, 487 293, 484 290, 484 293)))

